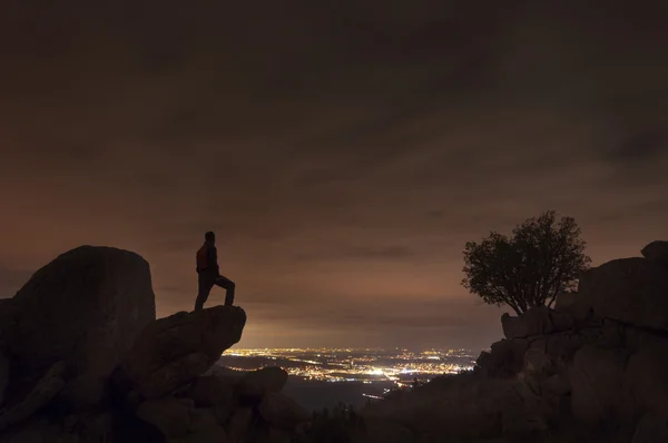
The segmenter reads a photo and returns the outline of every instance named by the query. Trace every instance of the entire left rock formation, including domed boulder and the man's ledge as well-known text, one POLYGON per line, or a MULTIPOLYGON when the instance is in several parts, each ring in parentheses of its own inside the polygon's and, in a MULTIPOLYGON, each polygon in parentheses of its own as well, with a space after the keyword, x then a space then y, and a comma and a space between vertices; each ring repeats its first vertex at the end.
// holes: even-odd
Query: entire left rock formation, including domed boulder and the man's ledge
POLYGON ((141 257, 70 250, 0 302, 0 443, 289 441, 310 414, 285 371, 214 371, 245 323, 236 306, 155 319, 141 257))

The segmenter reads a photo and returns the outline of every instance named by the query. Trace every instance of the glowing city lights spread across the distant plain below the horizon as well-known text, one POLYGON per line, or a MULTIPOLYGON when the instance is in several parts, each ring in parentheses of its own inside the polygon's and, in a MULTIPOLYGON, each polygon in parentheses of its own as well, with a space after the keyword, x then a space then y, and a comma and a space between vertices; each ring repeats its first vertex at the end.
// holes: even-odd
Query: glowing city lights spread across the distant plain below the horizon
POLYGON ((313 410, 361 406, 390 391, 473 368, 471 350, 265 348, 229 350, 219 366, 235 372, 281 366, 291 375, 286 394, 313 410))

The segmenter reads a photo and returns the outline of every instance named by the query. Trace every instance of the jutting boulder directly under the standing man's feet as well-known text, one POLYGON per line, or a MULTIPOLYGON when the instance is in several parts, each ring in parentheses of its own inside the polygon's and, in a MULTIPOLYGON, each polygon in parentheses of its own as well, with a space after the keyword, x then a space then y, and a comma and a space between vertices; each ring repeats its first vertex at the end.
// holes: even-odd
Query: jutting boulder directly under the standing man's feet
POLYGON ((157 319, 137 338, 122 370, 145 397, 164 396, 208 371, 242 338, 245 324, 246 313, 237 306, 157 319))

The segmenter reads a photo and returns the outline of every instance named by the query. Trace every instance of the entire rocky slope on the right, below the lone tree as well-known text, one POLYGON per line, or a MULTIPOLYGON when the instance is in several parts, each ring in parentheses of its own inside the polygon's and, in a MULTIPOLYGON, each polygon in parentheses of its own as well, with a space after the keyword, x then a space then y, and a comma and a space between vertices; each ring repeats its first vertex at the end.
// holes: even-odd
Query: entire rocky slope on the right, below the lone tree
POLYGON ((586 272, 554 309, 504 315, 507 338, 474 372, 366 415, 412 430, 407 441, 668 441, 666 245, 586 272))

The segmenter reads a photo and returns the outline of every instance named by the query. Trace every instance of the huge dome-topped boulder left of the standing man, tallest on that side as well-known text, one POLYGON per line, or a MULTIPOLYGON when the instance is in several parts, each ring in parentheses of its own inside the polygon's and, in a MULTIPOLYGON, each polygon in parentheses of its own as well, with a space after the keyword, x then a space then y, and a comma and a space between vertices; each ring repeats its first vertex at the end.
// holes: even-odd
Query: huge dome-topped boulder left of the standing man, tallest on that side
POLYGON ((155 319, 148 263, 110 247, 81 246, 39 269, 12 299, 4 338, 17 373, 35 380, 66 363, 71 405, 96 404, 107 377, 155 319))

